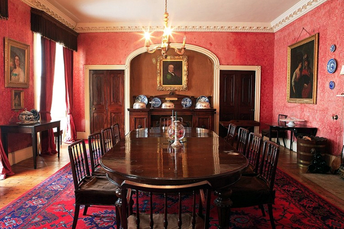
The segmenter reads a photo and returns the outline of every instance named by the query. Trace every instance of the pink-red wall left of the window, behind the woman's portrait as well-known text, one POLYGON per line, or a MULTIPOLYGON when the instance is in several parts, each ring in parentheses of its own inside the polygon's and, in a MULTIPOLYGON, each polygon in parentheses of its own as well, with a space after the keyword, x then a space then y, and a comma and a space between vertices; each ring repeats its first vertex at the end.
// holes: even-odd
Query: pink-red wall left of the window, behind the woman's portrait
MULTIPOLYGON (((9 123, 16 123, 19 121, 19 113, 24 109, 12 110, 11 109, 11 93, 12 90, 24 91, 24 108, 29 111, 35 108, 34 102, 34 62, 33 62, 33 33, 30 26, 30 9, 31 7, 20 0, 8 0, 8 20, 0 19, 0 92, 1 92, 1 115, 0 125, 9 123), (10 38, 18 42, 30 45, 29 56, 29 87, 5 87, 4 76, 4 39, 10 38)), ((31 146, 30 134, 9 134, 8 135, 8 152, 14 152, 19 149, 31 146), (18 141, 20 140, 20 141, 18 141)), ((32 155, 32 154, 31 154, 32 155)))

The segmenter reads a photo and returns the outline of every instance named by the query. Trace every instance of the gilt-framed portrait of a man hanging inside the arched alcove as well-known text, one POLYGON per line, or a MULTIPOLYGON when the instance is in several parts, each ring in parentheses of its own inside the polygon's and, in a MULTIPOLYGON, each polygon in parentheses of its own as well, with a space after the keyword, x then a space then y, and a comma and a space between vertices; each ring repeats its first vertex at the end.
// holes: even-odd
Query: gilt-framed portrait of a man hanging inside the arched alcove
POLYGON ((158 91, 187 91, 187 56, 158 56, 158 91))

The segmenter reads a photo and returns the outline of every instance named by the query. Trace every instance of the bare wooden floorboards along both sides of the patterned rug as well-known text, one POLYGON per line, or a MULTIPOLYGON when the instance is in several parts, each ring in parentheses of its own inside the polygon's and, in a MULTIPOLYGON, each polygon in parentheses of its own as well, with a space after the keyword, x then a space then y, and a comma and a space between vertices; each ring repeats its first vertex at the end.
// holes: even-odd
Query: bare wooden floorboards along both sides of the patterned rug
MULTIPOLYGON (((13 165, 12 170, 15 173, 15 175, 8 176, 5 180, 0 180, 0 208, 6 206, 8 203, 18 198, 26 191, 29 191, 37 184, 40 184, 46 178, 58 171, 64 165, 66 165, 69 162, 67 148, 68 145, 62 144, 62 147, 60 148, 60 158, 58 158, 57 155, 44 157, 39 156, 37 159, 37 169, 33 168, 32 158, 26 159, 13 165)), ((281 170, 287 172, 289 175, 301 182, 303 185, 310 188, 311 190, 313 190, 314 192, 316 192, 317 194, 327 199, 329 202, 333 203, 334 205, 338 206, 344 211, 344 194, 336 195, 336 191, 338 191, 338 193, 343 192, 343 187, 341 186, 344 184, 344 179, 339 179, 338 182, 332 183, 329 179, 329 184, 316 184, 316 181, 313 182, 302 176, 302 174, 306 173, 306 169, 301 168, 297 165, 297 153, 289 151, 283 146, 281 146, 280 150, 281 151, 278 161, 278 167, 281 170), (332 191, 328 190, 329 187, 332 188, 332 191)), ((329 174, 328 176, 339 175, 329 174)))

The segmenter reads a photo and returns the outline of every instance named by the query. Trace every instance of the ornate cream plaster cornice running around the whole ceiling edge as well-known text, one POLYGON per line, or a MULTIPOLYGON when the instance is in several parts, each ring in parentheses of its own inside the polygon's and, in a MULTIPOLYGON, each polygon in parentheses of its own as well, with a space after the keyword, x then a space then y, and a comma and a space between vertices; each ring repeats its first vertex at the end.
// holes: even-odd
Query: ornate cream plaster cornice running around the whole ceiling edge
MULTIPOLYGON (((142 31, 164 31, 163 26, 141 26, 119 23, 76 23, 67 15, 46 0, 21 0, 31 7, 43 10, 56 20, 65 24, 78 33, 101 33, 101 32, 142 32, 142 31)), ((217 23, 217 25, 206 25, 208 23, 195 23, 194 26, 177 26, 173 31, 176 32, 255 32, 255 33, 274 33, 297 18, 316 8, 327 0, 301 0, 284 14, 271 22, 271 25, 262 26, 243 23, 242 26, 236 23, 217 23)), ((211 23, 211 22, 210 22, 211 23)), ((185 23, 186 24, 186 23, 185 23)))

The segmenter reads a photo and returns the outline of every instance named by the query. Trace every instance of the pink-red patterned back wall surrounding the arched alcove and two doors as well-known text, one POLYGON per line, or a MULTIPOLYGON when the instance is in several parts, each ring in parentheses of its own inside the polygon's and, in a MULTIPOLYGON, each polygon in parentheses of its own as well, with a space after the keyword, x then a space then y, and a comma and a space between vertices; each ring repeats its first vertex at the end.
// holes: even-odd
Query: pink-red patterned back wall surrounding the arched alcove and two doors
MULTIPOLYGON (((161 35, 159 32, 153 33, 152 43, 157 44, 161 42, 161 39, 159 39, 161 35)), ((172 42, 181 42, 184 35, 186 36, 187 44, 196 45, 214 53, 220 65, 261 66, 260 122, 265 123, 271 120, 273 99, 271 85, 273 85, 274 80, 273 33, 185 32, 173 35, 172 42)), ((73 112, 78 132, 85 131, 85 65, 125 65, 130 53, 141 48, 143 45, 143 34, 139 33, 81 33, 78 36, 78 52, 74 53, 75 112, 73 112)), ((145 55, 149 57, 149 54, 145 55)), ((150 55, 151 58, 154 58, 158 54, 154 53, 150 55)), ((198 55, 204 54, 198 53, 198 55)), ((190 66, 189 63, 189 68, 202 69, 204 62, 196 61, 192 65, 190 66)), ((130 68, 130 66, 128 67, 130 68)), ((218 68, 218 66, 214 67, 218 68)), ((145 71, 143 67, 141 70, 145 71)), ((152 88, 156 88, 155 74, 150 76, 152 77, 153 84, 151 81, 144 80, 148 74, 150 73, 137 72, 134 74, 134 80, 147 83, 145 87, 147 85, 153 85, 152 88)), ((197 74, 190 74, 188 79, 191 83, 199 81, 198 77, 197 74)), ((205 94, 210 88, 210 85, 206 84, 213 81, 214 76, 207 75, 207 77, 209 77, 207 80, 200 81, 202 82, 202 87, 197 88, 195 86, 192 91, 186 93, 190 93, 190 95, 205 94), (211 80, 208 81, 208 79, 211 80)), ((142 89, 141 91, 143 90, 147 89, 142 89)))

